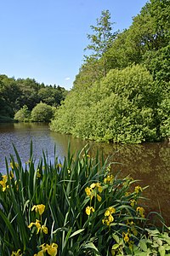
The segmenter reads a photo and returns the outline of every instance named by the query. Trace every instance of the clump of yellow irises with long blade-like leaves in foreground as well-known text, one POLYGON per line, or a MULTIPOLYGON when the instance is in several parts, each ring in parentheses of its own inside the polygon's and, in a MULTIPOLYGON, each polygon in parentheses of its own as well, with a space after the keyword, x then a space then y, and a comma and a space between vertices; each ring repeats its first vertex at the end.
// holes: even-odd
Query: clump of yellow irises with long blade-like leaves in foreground
POLYGON ((99 154, 68 149, 63 162, 55 156, 52 163, 43 153, 36 165, 31 145, 24 167, 14 150, 16 160, 11 155, 0 176, 2 255, 146 255, 162 247, 170 253, 168 233, 144 230, 145 188, 117 177, 99 154))

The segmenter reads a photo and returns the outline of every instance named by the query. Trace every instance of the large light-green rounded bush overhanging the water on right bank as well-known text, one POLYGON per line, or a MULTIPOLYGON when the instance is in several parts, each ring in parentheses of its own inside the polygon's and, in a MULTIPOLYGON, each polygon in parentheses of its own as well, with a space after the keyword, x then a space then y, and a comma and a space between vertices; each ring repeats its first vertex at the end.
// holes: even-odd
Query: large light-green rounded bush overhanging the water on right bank
POLYGON ((144 67, 113 69, 91 88, 72 90, 51 129, 114 143, 156 141, 167 131, 163 96, 163 88, 144 67))

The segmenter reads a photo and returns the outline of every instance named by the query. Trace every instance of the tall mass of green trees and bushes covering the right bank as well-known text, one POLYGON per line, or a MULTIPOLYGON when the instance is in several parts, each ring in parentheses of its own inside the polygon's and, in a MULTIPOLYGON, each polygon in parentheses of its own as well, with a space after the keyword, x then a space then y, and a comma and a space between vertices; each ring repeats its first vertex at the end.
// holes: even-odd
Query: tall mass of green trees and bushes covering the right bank
POLYGON ((170 136, 170 4, 150 0, 132 25, 111 31, 103 11, 73 89, 52 121, 54 131, 114 143, 170 136))

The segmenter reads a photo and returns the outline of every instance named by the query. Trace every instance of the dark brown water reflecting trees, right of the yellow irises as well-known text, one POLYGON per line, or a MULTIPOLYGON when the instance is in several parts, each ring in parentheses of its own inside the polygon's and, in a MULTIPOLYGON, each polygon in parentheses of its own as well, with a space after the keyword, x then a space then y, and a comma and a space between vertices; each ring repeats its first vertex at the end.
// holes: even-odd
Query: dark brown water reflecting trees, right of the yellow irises
MULTIPOLYGON (((111 155, 111 161, 121 162, 113 164, 113 172, 120 172, 122 177, 131 175, 140 179, 142 186, 149 185, 144 190, 148 212, 161 212, 170 224, 170 147, 168 143, 144 143, 143 145, 110 145, 101 144, 95 148, 102 148, 105 155, 111 155), (100 147, 101 146, 101 147, 100 147)), ((95 151, 95 150, 94 150, 95 151)))

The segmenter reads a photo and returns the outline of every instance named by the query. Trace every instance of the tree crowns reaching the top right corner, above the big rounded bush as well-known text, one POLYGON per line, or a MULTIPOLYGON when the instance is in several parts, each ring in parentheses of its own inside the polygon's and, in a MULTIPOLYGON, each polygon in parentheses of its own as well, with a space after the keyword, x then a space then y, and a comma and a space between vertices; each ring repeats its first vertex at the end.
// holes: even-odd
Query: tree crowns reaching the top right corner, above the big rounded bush
MULTIPOLYGON (((169 45, 169 1, 150 0, 132 25, 118 34, 108 52, 110 68, 124 68, 143 63, 144 55, 157 55, 156 51, 169 45)), ((154 60, 153 60, 154 64, 154 60)))

